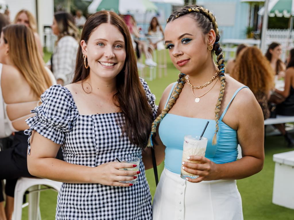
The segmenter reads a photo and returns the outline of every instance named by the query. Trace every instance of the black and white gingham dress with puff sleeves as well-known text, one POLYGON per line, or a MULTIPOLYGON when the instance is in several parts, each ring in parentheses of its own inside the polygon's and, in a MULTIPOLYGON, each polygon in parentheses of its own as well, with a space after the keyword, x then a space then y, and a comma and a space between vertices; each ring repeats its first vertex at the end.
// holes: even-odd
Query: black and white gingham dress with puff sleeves
MULTIPOLYGON (((155 96, 141 79, 154 116, 155 96)), ((141 155, 116 120, 122 113, 80 115, 69 90, 51 86, 41 95, 42 104, 26 120, 30 129, 62 146, 68 163, 96 167, 123 155, 141 155)), ((123 120, 123 119, 121 119, 123 120)), ((30 152, 30 146, 29 146, 30 152)), ((152 219, 151 194, 141 160, 138 183, 131 187, 63 183, 57 198, 56 219, 152 219)))

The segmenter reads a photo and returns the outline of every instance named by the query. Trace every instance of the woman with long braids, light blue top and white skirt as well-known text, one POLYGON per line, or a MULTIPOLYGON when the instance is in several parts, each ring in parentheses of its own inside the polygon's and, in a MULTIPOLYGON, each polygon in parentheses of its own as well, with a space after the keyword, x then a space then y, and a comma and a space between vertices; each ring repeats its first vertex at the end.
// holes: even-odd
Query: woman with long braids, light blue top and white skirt
MULTIPOLYGON (((248 87, 224 74, 220 35, 210 11, 186 6, 174 12, 164 37, 180 74, 163 93, 161 114, 153 122, 148 142, 155 149, 157 164, 165 157, 153 219, 243 219, 236 179, 263 167, 261 108, 248 87), (217 55, 217 67, 212 52, 217 55), (187 158, 191 163, 182 161, 184 136, 200 136, 207 121, 205 157, 191 155, 187 158), (243 153, 240 160, 238 143, 243 153), (181 169, 199 177, 181 179, 181 169)), ((152 167, 148 155, 146 148, 146 169, 152 167)))

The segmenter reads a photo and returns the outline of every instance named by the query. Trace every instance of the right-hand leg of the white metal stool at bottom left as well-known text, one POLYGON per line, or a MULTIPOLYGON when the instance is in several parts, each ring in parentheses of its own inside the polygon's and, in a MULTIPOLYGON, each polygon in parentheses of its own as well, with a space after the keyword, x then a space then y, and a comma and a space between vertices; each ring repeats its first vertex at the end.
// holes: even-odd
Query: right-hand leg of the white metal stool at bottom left
POLYGON ((39 189, 41 189, 40 185, 35 185, 35 186, 31 186, 29 188, 29 195, 28 195, 28 200, 29 200, 29 207, 28 207, 28 219, 30 220, 38 220, 39 219, 39 215, 38 215, 38 211, 39 210, 39 201, 40 201, 40 191, 39 189), (31 192, 36 190, 36 192, 31 192))

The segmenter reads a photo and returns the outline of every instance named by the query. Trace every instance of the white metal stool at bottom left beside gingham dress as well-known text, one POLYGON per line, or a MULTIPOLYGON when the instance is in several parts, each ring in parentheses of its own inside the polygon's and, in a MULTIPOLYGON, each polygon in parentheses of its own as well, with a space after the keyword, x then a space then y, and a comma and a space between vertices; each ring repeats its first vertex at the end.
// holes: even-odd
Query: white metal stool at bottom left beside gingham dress
POLYGON ((13 220, 21 220, 22 208, 28 205, 28 219, 41 220, 40 213, 40 191, 46 189, 55 189, 59 192, 62 182, 57 182, 48 179, 34 178, 34 177, 21 177, 16 182, 14 190, 14 212, 12 215, 13 220), (41 185, 47 186, 41 189, 41 185), (28 204, 22 204, 24 194, 29 191, 28 204))

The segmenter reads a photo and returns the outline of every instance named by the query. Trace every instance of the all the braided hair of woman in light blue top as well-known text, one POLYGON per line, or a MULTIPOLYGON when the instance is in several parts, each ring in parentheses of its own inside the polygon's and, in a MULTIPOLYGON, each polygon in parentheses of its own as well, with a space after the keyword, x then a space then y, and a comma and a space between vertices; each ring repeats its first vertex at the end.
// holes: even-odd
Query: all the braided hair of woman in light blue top
MULTIPOLYGON (((213 45, 213 51, 215 52, 215 54, 217 56, 217 64, 218 64, 218 69, 219 69, 218 77, 220 78, 221 86, 220 86, 220 93, 219 93, 219 96, 217 99, 216 109, 215 109, 216 130, 215 130, 213 140, 212 140, 212 144, 215 145, 216 144, 216 134, 219 129, 219 127, 218 127, 219 114, 218 113, 220 111, 220 104, 221 104, 221 101, 223 100, 223 95, 225 92, 225 75, 224 75, 224 73, 225 73, 225 65, 224 65, 225 60, 223 58, 222 49, 220 48, 220 44, 218 42, 220 39, 218 24, 216 22, 216 18, 208 9, 204 9, 203 7, 197 6, 197 5, 185 6, 182 9, 173 12, 171 14, 171 16, 169 16, 169 18, 166 20, 166 22, 169 23, 169 22, 173 21, 174 19, 181 17, 181 16, 184 16, 184 15, 191 16, 193 19, 195 19, 198 26, 202 29, 203 34, 207 34, 211 29, 213 29, 216 33, 216 42, 213 45)), ((213 51, 212 51, 212 53, 213 53, 213 51)), ((153 146, 152 136, 153 136, 153 134, 156 133, 156 126, 164 118, 164 116, 166 116, 168 111, 175 104, 176 100, 178 99, 178 97, 184 87, 185 82, 186 82, 185 74, 180 73, 178 82, 174 88, 174 91, 171 95, 171 98, 168 100, 168 104, 166 105, 166 108, 163 109, 162 113, 152 123, 151 133, 149 136, 147 147, 153 146)))

